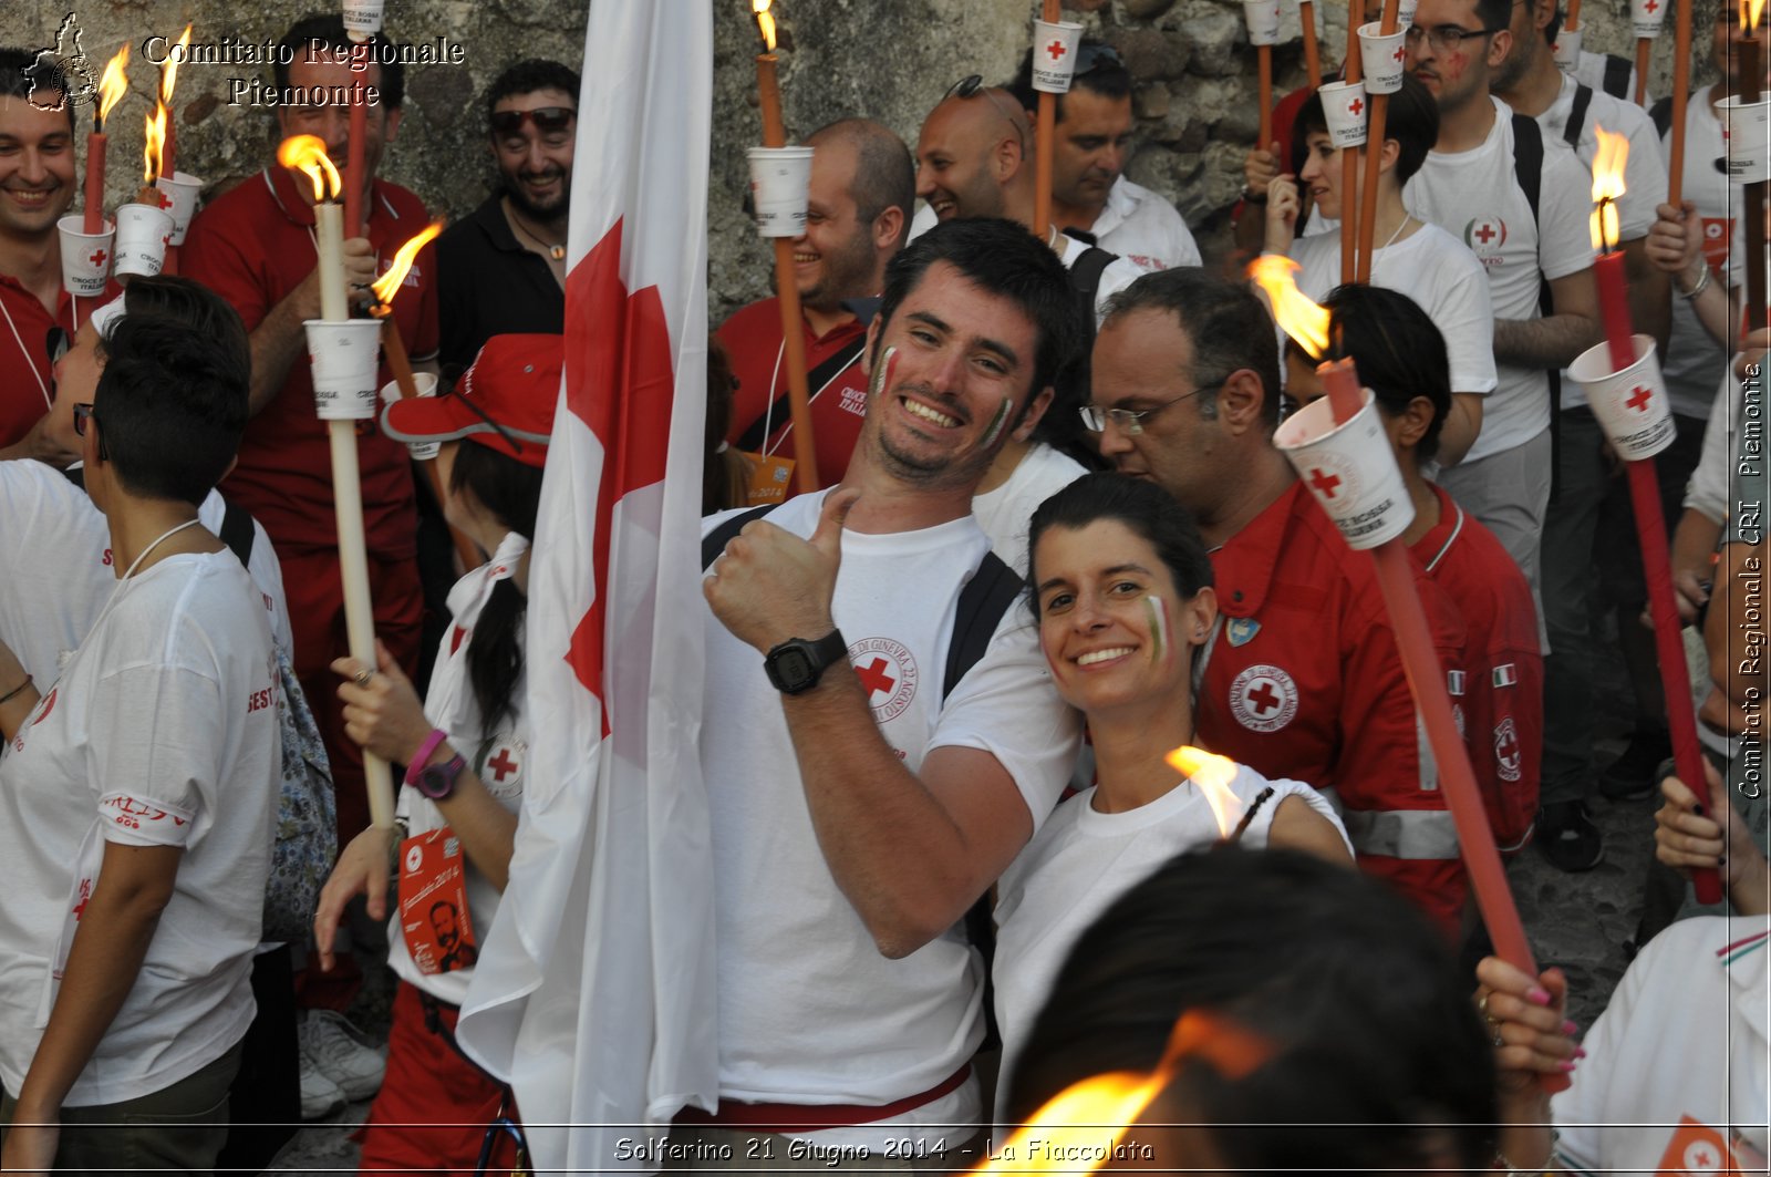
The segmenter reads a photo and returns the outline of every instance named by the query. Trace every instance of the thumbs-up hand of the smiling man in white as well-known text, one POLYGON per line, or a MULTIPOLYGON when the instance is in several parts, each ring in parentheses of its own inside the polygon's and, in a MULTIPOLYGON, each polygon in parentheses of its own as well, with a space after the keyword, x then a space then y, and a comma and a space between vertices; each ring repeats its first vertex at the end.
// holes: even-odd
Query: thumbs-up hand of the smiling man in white
POLYGON ((822 638, 834 629, 843 523, 859 498, 854 487, 831 491, 811 539, 767 519, 744 525, 701 580, 714 617, 763 654, 788 638, 822 638))

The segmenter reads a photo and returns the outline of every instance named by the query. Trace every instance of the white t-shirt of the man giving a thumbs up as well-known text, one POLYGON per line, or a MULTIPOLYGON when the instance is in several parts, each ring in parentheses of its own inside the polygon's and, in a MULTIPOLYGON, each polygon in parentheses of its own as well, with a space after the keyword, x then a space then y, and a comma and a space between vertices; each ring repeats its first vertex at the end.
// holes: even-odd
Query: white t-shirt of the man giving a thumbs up
MULTIPOLYGON (((769 523, 808 537, 822 507, 822 493, 800 495, 769 523)), ((942 702, 960 590, 990 541, 965 516, 886 535, 845 530, 841 544, 832 612, 854 668, 827 674, 861 675, 880 736, 912 773, 942 746, 994 755, 1038 828, 1070 776, 1079 723, 1052 688, 1024 603, 1009 606, 985 656, 942 702)), ((963 927, 903 959, 880 955, 820 849, 763 656, 710 610, 703 624, 721 1095, 878 1106, 928 1092, 983 1041, 983 961, 963 927)), ((965 1085, 891 1122, 818 1138, 884 1149, 905 1127, 976 1122, 978 1104, 965 1085)))

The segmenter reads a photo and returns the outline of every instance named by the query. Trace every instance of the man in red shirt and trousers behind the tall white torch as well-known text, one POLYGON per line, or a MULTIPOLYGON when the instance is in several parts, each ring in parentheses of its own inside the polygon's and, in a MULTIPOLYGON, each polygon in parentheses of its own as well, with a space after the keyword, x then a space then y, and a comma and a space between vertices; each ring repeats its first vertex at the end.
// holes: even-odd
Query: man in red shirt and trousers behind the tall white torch
MULTIPOLYGON (((372 44, 384 41, 377 37, 372 44)), ((289 66, 276 67, 276 85, 292 87, 292 92, 276 108, 278 131, 283 136, 319 135, 340 168, 347 154, 347 106, 299 99, 313 97, 310 87, 349 87, 352 82, 381 90, 379 103, 368 106, 363 144, 363 236, 344 243, 345 280, 367 300, 363 287, 429 223, 418 197, 374 179, 381 151, 400 126, 402 69, 390 62, 352 73, 344 60, 349 53, 344 21, 336 16, 299 21, 282 46, 289 50, 283 55, 289 66)), ((345 183, 352 179, 345 175, 345 183)), ((221 489, 264 525, 276 546, 289 590, 296 675, 310 698, 329 698, 336 688, 329 665, 349 649, 331 450, 326 425, 313 411, 301 326, 305 319, 321 317, 312 186, 276 163, 266 165, 197 214, 181 262, 186 275, 228 300, 251 333, 253 418, 239 447, 239 464, 221 489)), ((393 317, 414 367, 436 370, 436 253, 430 246, 420 250, 393 300, 393 317)), ((388 379, 383 372, 381 381, 388 379)), ((421 617, 411 459, 404 445, 365 422, 358 429, 358 461, 375 635, 411 672, 421 617)), ((356 743, 344 736, 336 707, 315 707, 315 716, 331 755, 344 844, 368 824, 363 760, 356 743)))

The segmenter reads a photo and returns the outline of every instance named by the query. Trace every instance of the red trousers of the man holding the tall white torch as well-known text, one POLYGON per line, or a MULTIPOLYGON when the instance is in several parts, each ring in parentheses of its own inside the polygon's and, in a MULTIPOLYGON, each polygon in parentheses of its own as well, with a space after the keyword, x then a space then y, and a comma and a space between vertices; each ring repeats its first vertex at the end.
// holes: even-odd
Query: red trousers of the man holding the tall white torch
MULTIPOLYGON (((283 565, 283 596, 294 638, 296 677, 308 697, 313 720, 331 759, 333 792, 338 803, 338 847, 368 826, 368 794, 363 789, 363 750, 344 732, 335 658, 351 652, 344 624, 344 581, 336 551, 276 553, 283 565)), ((423 624, 423 590, 416 560, 368 560, 368 596, 375 610, 375 636, 407 675, 418 666, 418 635, 423 624)))

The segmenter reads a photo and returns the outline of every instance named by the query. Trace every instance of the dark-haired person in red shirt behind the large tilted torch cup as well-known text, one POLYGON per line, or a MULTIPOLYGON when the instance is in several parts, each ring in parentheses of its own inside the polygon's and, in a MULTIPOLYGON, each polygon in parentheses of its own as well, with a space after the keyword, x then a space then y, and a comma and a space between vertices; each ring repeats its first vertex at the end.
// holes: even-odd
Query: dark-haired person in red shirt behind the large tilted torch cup
MULTIPOLYGON (((1415 505, 1403 539, 1463 613, 1463 670, 1449 679, 1452 704, 1495 842, 1502 853, 1518 851, 1537 815, 1544 659, 1525 573, 1493 532, 1420 475, 1450 411, 1445 339, 1413 300, 1396 291, 1342 285, 1325 305, 1334 316, 1330 335, 1378 397, 1415 505)), ((1286 351, 1286 392, 1295 401, 1309 404, 1323 395, 1314 360, 1295 344, 1286 351)))

